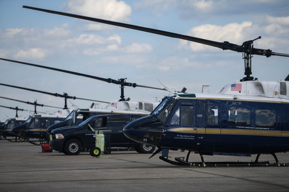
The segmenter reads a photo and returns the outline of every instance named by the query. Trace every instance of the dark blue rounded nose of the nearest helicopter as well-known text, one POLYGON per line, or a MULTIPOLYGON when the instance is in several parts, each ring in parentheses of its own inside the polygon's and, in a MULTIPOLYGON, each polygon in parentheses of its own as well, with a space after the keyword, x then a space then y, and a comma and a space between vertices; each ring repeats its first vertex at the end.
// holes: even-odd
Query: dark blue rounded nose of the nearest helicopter
POLYGON ((160 143, 161 131, 162 123, 152 115, 136 119, 123 128, 127 138, 154 146, 160 143))

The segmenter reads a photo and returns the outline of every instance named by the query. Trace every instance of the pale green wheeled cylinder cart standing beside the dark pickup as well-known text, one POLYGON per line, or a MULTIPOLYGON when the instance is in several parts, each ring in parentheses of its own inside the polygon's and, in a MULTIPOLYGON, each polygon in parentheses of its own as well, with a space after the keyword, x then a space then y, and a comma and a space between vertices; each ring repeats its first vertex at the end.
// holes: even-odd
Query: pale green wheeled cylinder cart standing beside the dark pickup
POLYGON ((104 152, 104 146, 105 146, 105 135, 103 134, 103 132, 110 131, 110 130, 94 130, 89 124, 88 126, 90 127, 92 131, 95 132, 95 147, 90 149, 89 151, 90 155, 92 157, 98 157, 98 158, 110 158, 110 157, 101 157, 101 152, 104 152))

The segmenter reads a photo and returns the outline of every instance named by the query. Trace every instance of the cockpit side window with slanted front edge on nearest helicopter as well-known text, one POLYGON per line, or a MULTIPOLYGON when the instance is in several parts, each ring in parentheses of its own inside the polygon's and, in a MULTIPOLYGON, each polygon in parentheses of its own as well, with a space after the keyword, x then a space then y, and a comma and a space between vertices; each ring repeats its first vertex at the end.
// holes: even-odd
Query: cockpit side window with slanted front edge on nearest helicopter
POLYGON ((193 126, 194 125, 194 108, 193 106, 181 106, 177 108, 173 115, 171 125, 193 126))

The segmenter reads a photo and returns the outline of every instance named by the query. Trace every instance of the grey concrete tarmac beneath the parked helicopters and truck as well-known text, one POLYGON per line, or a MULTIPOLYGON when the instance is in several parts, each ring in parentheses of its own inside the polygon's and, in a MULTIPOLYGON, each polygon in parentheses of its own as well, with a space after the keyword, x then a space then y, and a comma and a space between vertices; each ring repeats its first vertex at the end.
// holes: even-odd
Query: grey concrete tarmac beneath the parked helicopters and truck
MULTIPOLYGON (((171 160, 187 152, 170 151, 171 160)), ((280 163, 288 153, 277 153, 280 163)), ((92 157, 42 153, 41 146, 0 140, 0 191, 289 191, 289 167, 192 168, 160 160, 159 154, 112 151, 92 157)), ((204 155, 205 161, 255 161, 252 157, 204 155)), ((275 162, 272 155, 259 161, 275 162)), ((201 161, 191 154, 189 161, 201 161)))

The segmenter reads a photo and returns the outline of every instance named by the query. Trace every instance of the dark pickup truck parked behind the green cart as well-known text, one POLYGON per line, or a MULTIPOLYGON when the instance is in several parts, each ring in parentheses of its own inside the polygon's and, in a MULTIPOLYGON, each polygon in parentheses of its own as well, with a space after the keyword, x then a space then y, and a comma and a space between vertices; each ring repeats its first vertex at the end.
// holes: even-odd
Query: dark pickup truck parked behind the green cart
POLYGON ((93 130, 108 130, 110 147, 134 148, 138 153, 152 153, 154 146, 137 143, 123 134, 123 128, 130 123, 128 115, 96 115, 78 126, 57 128, 51 131, 50 148, 66 155, 78 155, 81 151, 89 151, 95 147, 93 130), (90 126, 89 126, 89 125, 90 126))

